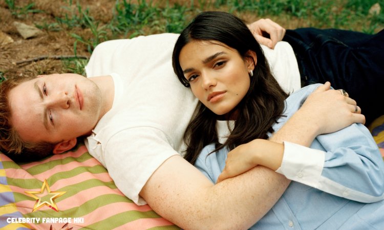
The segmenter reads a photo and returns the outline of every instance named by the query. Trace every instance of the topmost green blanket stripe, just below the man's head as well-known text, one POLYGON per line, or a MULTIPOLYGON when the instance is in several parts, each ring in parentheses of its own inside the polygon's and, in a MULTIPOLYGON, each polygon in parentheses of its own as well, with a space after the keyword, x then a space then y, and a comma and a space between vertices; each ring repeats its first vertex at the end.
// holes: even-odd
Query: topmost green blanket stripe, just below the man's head
POLYGON ((81 156, 78 157, 73 157, 73 156, 68 156, 63 159, 56 159, 56 160, 50 160, 46 163, 41 163, 39 165, 35 165, 26 171, 29 172, 31 175, 37 175, 40 173, 44 173, 58 165, 66 165, 71 162, 85 162, 88 159, 93 158, 88 152, 84 152, 81 156))

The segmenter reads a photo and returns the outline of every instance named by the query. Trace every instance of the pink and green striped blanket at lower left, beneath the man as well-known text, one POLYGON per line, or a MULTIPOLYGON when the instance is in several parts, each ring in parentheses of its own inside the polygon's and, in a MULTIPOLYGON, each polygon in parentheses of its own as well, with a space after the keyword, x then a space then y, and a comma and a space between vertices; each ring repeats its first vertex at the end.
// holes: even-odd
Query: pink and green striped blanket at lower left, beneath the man
POLYGON ((0 181, 0 229, 180 229, 126 198, 82 143, 28 164, 0 153, 0 181))

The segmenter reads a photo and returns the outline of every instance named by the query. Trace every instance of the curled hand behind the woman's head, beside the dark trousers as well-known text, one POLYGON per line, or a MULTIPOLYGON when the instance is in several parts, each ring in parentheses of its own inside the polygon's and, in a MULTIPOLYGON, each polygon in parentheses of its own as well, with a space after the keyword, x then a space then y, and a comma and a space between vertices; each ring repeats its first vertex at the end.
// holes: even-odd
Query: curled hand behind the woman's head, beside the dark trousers
POLYGON ((256 40, 263 45, 273 49, 278 41, 281 41, 285 35, 285 29, 269 18, 259 19, 248 25, 256 40), (269 36, 264 36, 268 34, 269 36))

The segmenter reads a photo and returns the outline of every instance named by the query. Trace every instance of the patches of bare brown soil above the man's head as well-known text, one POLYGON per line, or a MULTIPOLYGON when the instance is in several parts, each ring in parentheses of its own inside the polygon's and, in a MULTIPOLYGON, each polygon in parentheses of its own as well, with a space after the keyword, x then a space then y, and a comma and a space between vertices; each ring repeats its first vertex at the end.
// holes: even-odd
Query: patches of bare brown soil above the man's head
MULTIPOLYGON (((47 31, 32 38, 24 39, 17 32, 14 21, 34 26, 48 25, 56 22, 56 17, 63 17, 68 13, 66 1, 34 0, 36 9, 44 13, 29 13, 27 15, 12 15, 5 1, 0 1, 0 31, 13 39, 12 43, 0 44, 0 72, 4 77, 11 78, 15 75, 36 76, 38 74, 61 73, 60 60, 40 60, 16 64, 17 62, 45 55, 74 55, 73 44, 75 39, 68 30, 47 31)), ((108 22, 112 18, 114 0, 83 0, 80 1, 85 8, 89 8, 90 14, 101 22, 108 22)), ((16 1, 18 5, 28 5, 30 1, 16 1)), ((74 4, 75 5, 75 4, 74 4)), ((77 34, 89 34, 90 31, 74 30, 77 34)), ((78 47, 77 55, 90 56, 85 46, 78 47)))

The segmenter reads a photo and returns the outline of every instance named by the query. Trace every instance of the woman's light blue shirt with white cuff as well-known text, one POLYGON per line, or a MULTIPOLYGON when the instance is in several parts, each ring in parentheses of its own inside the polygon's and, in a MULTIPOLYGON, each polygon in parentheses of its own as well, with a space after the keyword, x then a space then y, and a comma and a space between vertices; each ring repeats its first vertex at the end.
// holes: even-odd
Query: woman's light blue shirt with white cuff
MULTIPOLYGON (((275 131, 318 85, 287 98, 286 117, 273 126, 275 131)), ((293 181, 251 229, 384 229, 384 162, 364 125, 319 135, 311 149, 288 142, 284 148, 282 166, 276 171, 293 181)), ((206 146, 195 166, 215 183, 228 150, 209 154, 214 149, 214 144, 206 146)))

